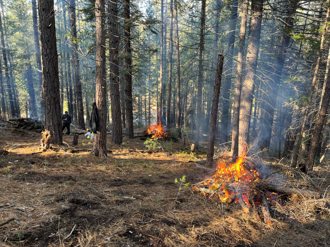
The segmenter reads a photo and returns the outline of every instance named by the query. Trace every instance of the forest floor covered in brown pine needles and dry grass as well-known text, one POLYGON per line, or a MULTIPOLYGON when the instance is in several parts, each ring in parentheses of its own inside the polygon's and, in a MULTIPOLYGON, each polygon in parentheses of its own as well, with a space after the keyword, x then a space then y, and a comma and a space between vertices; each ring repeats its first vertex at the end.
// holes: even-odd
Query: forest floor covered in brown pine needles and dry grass
MULTIPOLYGON (((205 171, 189 161, 205 158, 206 148, 189 154, 181 142, 165 142, 161 152, 148 153, 137 151, 148 150, 140 138, 118 147, 108 136, 108 159, 64 149, 33 154, 40 138, 0 129, 0 150, 9 152, 0 154, 0 223, 16 218, 0 227, 0 246, 330 245, 330 210, 317 200, 289 199, 281 210, 291 217, 268 225, 235 203, 191 186, 179 190, 175 178, 200 181, 205 171)), ((71 146, 73 136, 63 141, 71 146)), ((79 136, 76 149, 91 146, 79 136)), ((316 167, 310 181, 325 191, 329 171, 316 167)))

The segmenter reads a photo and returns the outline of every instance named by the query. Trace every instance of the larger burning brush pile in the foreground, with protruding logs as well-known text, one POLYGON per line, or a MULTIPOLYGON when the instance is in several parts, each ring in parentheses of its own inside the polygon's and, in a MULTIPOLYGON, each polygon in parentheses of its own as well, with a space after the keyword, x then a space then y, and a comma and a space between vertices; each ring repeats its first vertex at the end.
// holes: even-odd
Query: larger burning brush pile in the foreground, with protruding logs
POLYGON ((286 196, 293 194, 304 197, 319 196, 315 191, 287 186, 282 182, 283 179, 274 177, 274 174, 282 171, 274 172, 271 166, 255 164, 245 156, 232 159, 227 163, 222 160, 228 160, 228 158, 219 157, 213 175, 194 184, 193 189, 209 197, 216 195, 222 203, 239 204, 244 212, 253 209, 264 218, 266 224, 272 224, 269 206, 282 205, 285 203, 286 196))

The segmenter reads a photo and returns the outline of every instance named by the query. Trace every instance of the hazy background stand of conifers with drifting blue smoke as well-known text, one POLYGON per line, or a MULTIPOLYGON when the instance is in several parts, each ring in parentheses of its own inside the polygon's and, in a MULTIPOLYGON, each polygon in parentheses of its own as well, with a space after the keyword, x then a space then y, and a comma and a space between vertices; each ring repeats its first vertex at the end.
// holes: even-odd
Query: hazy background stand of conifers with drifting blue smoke
MULTIPOLYGON (((0 0, 0 5, 1 115, 43 118, 37 3, 0 0)), ((61 114, 68 110, 83 129, 96 101, 94 7, 94 1, 54 2, 61 114)), ((315 149, 315 136, 316 157, 325 152, 328 118, 321 131, 314 130, 325 117, 322 101, 328 97, 328 2, 126 0, 105 7, 108 123, 118 116, 111 114, 109 59, 118 49, 122 127, 129 122, 127 109, 147 125, 164 117, 195 139, 198 148, 200 136, 209 133, 217 55, 222 53, 218 144, 232 148, 234 156, 234 147, 244 149, 237 142, 279 158, 292 154, 297 164, 315 149), (112 22, 118 35, 112 33, 112 22), (119 38, 115 45, 113 36, 119 38), (127 108, 128 73, 132 107, 127 108), (157 116, 151 116, 154 111, 157 116)))

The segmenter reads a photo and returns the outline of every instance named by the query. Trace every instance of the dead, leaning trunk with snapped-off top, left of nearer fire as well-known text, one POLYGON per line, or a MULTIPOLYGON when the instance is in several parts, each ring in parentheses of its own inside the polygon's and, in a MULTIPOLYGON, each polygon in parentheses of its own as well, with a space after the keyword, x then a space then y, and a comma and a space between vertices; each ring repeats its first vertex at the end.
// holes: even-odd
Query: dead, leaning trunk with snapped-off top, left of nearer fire
POLYGON ((223 56, 219 54, 217 60, 216 72, 215 72, 215 84, 214 84, 214 92, 212 99, 209 145, 206 155, 206 164, 210 164, 213 162, 215 129, 216 129, 216 119, 218 115, 222 68, 223 68, 223 56))

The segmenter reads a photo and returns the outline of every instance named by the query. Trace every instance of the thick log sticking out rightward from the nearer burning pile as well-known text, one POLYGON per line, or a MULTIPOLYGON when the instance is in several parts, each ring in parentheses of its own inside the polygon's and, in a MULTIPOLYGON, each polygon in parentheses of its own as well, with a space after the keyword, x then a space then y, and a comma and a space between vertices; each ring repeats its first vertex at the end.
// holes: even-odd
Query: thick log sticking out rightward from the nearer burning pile
POLYGON ((266 191, 273 191, 277 193, 292 195, 296 194, 297 196, 303 196, 303 197, 319 197, 320 194, 316 191, 309 191, 309 190, 303 190, 303 189, 296 189, 280 184, 270 184, 267 182, 256 182, 256 187, 260 190, 266 190, 266 191))

